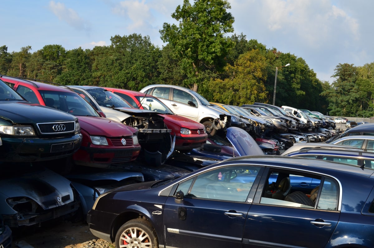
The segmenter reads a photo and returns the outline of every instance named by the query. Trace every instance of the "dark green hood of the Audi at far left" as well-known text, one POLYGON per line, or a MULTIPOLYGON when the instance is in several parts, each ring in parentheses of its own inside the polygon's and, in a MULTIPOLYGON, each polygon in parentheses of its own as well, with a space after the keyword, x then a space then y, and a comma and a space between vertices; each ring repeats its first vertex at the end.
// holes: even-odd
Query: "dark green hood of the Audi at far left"
POLYGON ((18 124, 76 120, 74 115, 30 102, 1 102, 0 117, 18 124))

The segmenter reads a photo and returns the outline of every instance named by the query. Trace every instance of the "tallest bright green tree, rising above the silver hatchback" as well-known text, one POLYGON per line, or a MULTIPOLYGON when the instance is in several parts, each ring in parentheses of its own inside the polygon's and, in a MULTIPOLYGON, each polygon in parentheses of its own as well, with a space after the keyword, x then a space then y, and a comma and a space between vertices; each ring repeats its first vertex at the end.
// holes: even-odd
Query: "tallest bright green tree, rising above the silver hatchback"
POLYGON ((226 66, 224 59, 233 42, 224 37, 232 33, 234 18, 227 12, 231 6, 226 0, 189 0, 178 5, 172 18, 179 22, 163 24, 161 39, 171 44, 174 57, 180 60, 181 69, 187 75, 185 86, 197 91, 206 81, 204 70, 221 71, 226 66))

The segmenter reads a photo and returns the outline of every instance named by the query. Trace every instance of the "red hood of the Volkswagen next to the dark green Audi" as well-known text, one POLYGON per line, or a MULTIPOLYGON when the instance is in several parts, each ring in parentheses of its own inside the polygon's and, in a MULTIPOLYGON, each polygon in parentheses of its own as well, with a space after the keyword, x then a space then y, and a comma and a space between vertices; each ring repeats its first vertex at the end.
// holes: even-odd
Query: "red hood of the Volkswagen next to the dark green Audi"
POLYGON ((77 116, 80 128, 90 135, 106 137, 132 136, 136 129, 103 117, 77 116))

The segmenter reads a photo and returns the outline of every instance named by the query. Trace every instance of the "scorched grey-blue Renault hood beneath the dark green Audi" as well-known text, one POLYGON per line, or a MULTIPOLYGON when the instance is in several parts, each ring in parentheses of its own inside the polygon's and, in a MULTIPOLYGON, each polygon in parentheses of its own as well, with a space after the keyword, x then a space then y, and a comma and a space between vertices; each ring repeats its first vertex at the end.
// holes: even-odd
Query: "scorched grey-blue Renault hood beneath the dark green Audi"
MULTIPOLYGON (((28 197, 43 209, 56 208, 73 202, 73 189, 70 181, 49 169, 35 169, 21 175, 0 180, 0 200, 16 197, 28 197)), ((3 204, 0 209, 2 214, 11 214, 13 209, 5 208, 3 204)))

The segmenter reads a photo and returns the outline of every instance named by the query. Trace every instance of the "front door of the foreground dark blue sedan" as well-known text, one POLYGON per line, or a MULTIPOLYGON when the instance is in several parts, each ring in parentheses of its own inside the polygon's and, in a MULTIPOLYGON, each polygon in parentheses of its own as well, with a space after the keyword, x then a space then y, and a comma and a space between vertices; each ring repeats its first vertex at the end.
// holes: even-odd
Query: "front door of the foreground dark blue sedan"
POLYGON ((166 247, 242 247, 242 233, 261 167, 214 169, 180 183, 164 209, 166 247))

